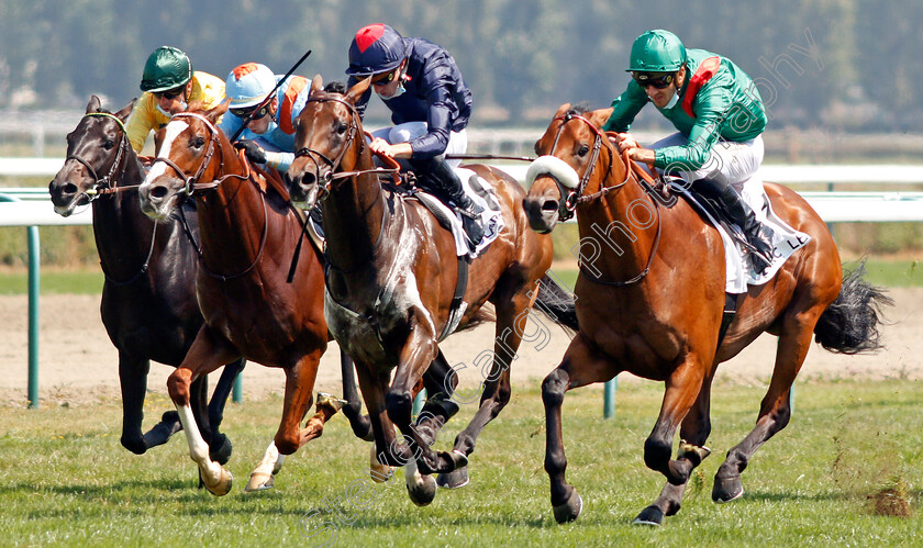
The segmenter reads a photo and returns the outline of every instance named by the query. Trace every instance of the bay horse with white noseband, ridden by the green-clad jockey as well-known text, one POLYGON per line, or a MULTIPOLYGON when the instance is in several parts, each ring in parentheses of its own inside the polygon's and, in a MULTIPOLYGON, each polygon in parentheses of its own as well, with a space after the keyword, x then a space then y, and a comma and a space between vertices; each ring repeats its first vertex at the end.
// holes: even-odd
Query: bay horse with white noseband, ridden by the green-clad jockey
MULTIPOLYGON (((591 264, 581 257, 575 288, 579 333, 542 385, 547 445, 545 470, 558 522, 576 519, 580 495, 565 481, 567 460, 560 409, 565 392, 604 382, 621 371, 663 381, 660 415, 644 444, 644 462, 667 484, 636 523, 660 524, 679 511, 692 470, 709 455, 709 406, 716 367, 761 333, 779 337, 775 369, 755 428, 718 470, 712 497, 743 494, 741 472, 754 452, 781 430, 791 414, 791 385, 812 336, 827 350, 856 354, 880 348, 878 311, 889 300, 861 280, 843 280, 839 255, 824 222, 792 190, 766 183, 772 210, 811 241, 769 282, 747 288, 719 346, 724 305, 724 250, 718 231, 686 202, 667 209, 649 195, 599 127, 611 109, 563 105, 535 145, 534 182, 524 206, 531 226, 548 233, 576 211, 581 247, 594 242, 591 264), (605 239, 602 242, 601 239, 605 239), (671 447, 676 429, 680 444, 671 447)), ((529 181, 527 181, 529 182, 529 181)))

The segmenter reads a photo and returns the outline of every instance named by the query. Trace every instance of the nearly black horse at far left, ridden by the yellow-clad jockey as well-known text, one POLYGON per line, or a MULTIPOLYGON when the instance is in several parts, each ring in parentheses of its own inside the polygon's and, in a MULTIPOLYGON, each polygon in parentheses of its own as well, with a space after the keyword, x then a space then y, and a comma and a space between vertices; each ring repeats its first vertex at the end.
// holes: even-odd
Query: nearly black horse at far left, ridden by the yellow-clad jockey
MULTIPOLYGON (((202 325, 192 279, 198 270, 194 248, 182 234, 177 215, 154 223, 141 212, 134 193, 144 170, 129 144, 124 122, 134 101, 119 112, 100 107, 96 96, 77 127, 67 135, 67 158, 48 184, 55 212, 69 216, 92 203, 93 235, 104 275, 102 323, 119 349, 122 389, 122 445, 142 455, 166 443, 181 425, 176 412, 142 434, 144 396, 151 360, 179 366, 202 325), (101 175, 104 174, 104 175, 101 175)), ((198 233, 194 211, 186 212, 189 230, 198 233)), ((224 404, 243 369, 243 360, 224 368, 208 401, 208 378, 191 388, 191 405, 212 458, 224 463, 231 443, 219 433, 224 404)))

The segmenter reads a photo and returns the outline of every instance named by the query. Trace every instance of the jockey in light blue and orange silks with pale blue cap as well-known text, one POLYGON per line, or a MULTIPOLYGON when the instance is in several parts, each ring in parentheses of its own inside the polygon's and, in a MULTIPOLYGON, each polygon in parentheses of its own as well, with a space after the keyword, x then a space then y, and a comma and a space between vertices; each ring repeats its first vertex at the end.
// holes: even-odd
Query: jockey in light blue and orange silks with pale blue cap
POLYGON ((246 63, 235 67, 224 81, 231 108, 219 127, 230 137, 251 113, 251 122, 234 146, 243 148, 247 158, 287 171, 294 159, 294 119, 304 109, 311 92, 311 81, 303 76, 290 76, 275 96, 258 112, 254 112, 281 80, 269 67, 246 63))

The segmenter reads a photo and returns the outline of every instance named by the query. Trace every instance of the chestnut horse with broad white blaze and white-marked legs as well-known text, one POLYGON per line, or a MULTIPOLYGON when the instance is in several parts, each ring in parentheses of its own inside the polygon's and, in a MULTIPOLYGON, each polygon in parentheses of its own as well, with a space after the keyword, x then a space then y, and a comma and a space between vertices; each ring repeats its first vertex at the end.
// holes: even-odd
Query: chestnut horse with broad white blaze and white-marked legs
POLYGON ((167 388, 190 455, 216 495, 229 492, 232 478, 209 459, 203 440, 189 427, 194 421, 189 385, 197 378, 240 357, 285 370, 279 429, 248 491, 271 487, 281 456, 320 436, 340 409, 336 400, 319 398, 316 414, 300 425, 329 340, 322 260, 310 244, 298 245, 302 225, 285 186, 252 172, 214 125, 227 104, 210 111, 193 104, 174 115, 157 134, 157 157, 140 189, 142 209, 155 219, 169 215, 188 195, 199 212, 202 256, 196 287, 205 321, 167 388))

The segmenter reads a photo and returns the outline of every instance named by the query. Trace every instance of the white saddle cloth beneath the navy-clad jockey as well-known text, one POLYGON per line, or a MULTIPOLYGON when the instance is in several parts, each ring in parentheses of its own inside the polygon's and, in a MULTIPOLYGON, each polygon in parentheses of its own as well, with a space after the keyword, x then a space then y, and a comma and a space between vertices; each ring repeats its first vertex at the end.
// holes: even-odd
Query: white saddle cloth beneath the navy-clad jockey
POLYGON ((465 189, 465 193, 471 199, 471 201, 480 205, 483 210, 480 215, 481 226, 483 226, 483 238, 481 238, 474 249, 470 249, 468 246, 467 238, 465 236, 465 228, 462 226, 462 214, 452 211, 441 200, 431 198, 431 194, 423 191, 419 191, 418 193, 423 194, 424 198, 422 199, 426 201, 426 205, 429 208, 436 208, 442 211, 443 214, 438 216, 448 220, 449 225, 452 226, 452 235, 455 238, 455 254, 458 257, 468 255, 474 259, 477 258, 481 251, 487 249, 487 247, 497 239, 497 236, 500 235, 500 231, 502 231, 504 226, 503 212, 500 211, 500 202, 497 201, 497 195, 493 193, 493 189, 486 180, 478 177, 477 174, 470 169, 454 168, 454 170, 455 175, 458 176, 458 179, 462 180, 462 187, 465 189))

